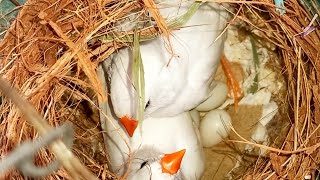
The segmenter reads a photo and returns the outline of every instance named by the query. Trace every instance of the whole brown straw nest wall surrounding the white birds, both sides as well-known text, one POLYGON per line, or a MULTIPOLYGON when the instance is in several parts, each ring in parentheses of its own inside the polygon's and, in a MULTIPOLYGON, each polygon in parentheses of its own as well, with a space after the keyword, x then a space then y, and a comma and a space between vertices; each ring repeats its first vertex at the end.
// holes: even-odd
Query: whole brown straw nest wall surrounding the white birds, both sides
MULTIPOLYGON (((317 17, 315 14, 320 15, 316 1, 287 0, 283 7, 285 13, 281 15, 281 7, 273 1, 223 2, 235 8, 229 24, 241 20, 248 30, 258 31, 276 46, 283 60, 281 68, 288 89, 286 102, 290 104, 284 114, 290 118, 290 128, 282 135, 286 136, 282 145, 255 144, 268 150, 267 158, 257 158, 241 177, 302 179, 311 175, 313 179, 319 178, 320 33, 311 32, 317 26, 305 29, 313 17, 317 17)), ((64 168, 44 179, 115 178, 108 170, 99 122, 97 104, 106 100, 106 96, 96 68, 117 49, 131 45, 121 38, 133 32, 116 32, 114 26, 132 12, 141 19, 151 12, 156 22, 139 29, 141 37, 155 34, 168 37, 171 29, 158 16, 152 0, 29 0, 1 41, 1 76, 50 126, 66 121, 74 124, 72 152, 82 163, 63 163, 64 168), (106 41, 105 35, 112 39, 106 41)), ((314 24, 319 26, 319 20, 315 19, 314 24)), ((10 99, 2 99, 0 114, 2 158, 21 142, 35 138, 38 133, 45 134, 39 125, 21 116, 23 113, 10 99)), ((36 164, 45 165, 52 158, 51 151, 42 149, 36 156, 36 164)), ((2 177, 24 179, 16 170, 2 177)))

